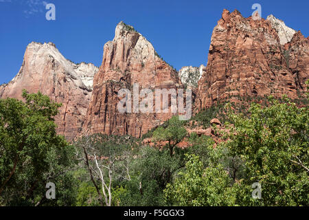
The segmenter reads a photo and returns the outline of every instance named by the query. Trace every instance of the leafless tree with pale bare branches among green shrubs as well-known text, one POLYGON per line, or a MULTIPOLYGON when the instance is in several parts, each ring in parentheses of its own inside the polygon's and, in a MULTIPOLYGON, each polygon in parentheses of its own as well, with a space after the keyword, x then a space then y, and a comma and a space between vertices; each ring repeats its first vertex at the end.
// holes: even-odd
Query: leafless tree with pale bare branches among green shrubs
MULTIPOLYGON (((87 181, 92 182, 100 205, 112 206, 118 203, 115 201, 119 200, 118 196, 113 198, 115 193, 121 194, 116 184, 131 179, 130 160, 133 158, 136 140, 130 136, 98 133, 81 137, 74 144, 78 150, 79 160, 83 162, 80 166, 88 171, 87 181)), ((80 188, 82 191, 89 189, 80 188)), ((79 204, 84 204, 82 199, 85 199, 84 196, 79 199, 79 204)))

